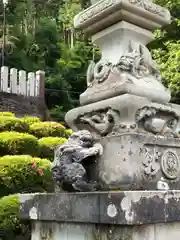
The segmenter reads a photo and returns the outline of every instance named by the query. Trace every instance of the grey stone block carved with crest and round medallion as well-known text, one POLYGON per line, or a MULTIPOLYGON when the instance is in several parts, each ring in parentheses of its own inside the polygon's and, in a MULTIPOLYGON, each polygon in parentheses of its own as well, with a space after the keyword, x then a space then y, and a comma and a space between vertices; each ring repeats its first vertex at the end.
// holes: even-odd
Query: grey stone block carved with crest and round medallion
POLYGON ((104 190, 155 190, 180 185, 180 140, 127 133, 101 139, 104 152, 89 166, 104 190))

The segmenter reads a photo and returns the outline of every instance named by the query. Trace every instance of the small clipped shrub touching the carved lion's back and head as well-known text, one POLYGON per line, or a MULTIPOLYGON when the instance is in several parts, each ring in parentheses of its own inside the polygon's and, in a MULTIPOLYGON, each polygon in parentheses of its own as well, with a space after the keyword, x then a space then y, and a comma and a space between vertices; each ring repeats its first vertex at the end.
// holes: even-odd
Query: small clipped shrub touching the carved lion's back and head
POLYGON ((66 138, 46 137, 39 139, 40 157, 53 160, 55 148, 67 141, 66 138))

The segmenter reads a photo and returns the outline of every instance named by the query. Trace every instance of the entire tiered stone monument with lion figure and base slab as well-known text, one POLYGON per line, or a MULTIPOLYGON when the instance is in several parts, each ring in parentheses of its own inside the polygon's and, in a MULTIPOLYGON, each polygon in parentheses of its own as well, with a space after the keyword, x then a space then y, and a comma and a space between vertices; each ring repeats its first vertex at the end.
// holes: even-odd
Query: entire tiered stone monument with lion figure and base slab
POLYGON ((93 0, 75 17, 102 57, 66 115, 57 191, 20 197, 32 240, 180 239, 180 107, 146 47, 170 20, 150 0, 93 0))

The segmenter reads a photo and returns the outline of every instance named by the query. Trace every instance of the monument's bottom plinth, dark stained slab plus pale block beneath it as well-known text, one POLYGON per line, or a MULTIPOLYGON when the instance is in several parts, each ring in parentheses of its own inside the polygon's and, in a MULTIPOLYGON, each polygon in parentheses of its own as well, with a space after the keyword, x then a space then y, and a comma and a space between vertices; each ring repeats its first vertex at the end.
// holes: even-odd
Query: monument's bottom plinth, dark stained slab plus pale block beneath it
POLYGON ((180 192, 21 195, 32 240, 179 240, 180 192))

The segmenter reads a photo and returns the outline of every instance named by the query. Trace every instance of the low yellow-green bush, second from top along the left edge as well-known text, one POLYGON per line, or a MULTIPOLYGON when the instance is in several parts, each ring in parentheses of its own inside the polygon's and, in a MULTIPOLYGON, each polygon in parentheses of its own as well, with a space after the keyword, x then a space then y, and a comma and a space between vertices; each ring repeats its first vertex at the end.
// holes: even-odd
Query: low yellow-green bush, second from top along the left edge
POLYGON ((17 131, 27 132, 29 126, 22 119, 11 116, 0 115, 0 132, 2 131, 17 131))

